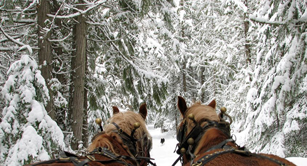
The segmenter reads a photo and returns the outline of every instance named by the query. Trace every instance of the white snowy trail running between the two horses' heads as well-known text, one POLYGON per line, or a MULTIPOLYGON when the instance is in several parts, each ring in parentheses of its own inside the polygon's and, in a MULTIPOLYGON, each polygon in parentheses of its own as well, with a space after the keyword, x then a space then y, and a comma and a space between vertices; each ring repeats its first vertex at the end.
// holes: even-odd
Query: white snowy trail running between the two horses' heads
MULTIPOLYGON (((174 131, 161 133, 160 128, 155 129, 153 125, 148 125, 147 129, 152 136, 152 150, 150 157, 156 162, 157 166, 170 166, 179 157, 177 153, 173 153, 178 143, 176 138, 173 138, 176 133, 174 131), (161 138, 165 139, 165 143, 161 145, 161 138)), ((176 166, 180 166, 180 161, 176 166)))

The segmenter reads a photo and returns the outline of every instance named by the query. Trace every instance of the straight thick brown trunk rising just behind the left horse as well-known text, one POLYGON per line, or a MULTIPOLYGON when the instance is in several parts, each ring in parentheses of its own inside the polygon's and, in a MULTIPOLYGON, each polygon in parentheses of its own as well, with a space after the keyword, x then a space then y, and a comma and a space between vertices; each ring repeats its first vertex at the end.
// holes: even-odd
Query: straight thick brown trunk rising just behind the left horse
MULTIPOLYGON (((79 2, 81 4, 81 2, 79 2)), ((77 5, 77 9, 84 10, 83 5, 77 5)), ((75 11, 76 12, 76 11, 75 11)), ((71 147, 78 149, 82 140, 83 109, 84 109, 84 79, 86 63, 86 24, 82 15, 77 16, 73 28, 73 58, 72 58, 72 97, 70 99, 71 127, 75 140, 71 147)))

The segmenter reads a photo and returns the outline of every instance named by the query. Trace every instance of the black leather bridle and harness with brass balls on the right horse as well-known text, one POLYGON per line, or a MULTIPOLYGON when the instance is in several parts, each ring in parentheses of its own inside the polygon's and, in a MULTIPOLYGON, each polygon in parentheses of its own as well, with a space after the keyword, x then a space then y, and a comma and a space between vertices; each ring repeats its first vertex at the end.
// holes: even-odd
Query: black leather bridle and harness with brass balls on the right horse
MULTIPOLYGON (((287 165, 282 161, 276 160, 272 157, 268 157, 265 155, 260 155, 260 154, 255 154, 251 153, 248 149, 245 147, 240 147, 235 143, 235 140, 233 140, 230 136, 230 124, 232 123, 231 117, 224 113, 220 113, 218 115, 220 117, 221 122, 215 122, 215 121, 208 121, 208 120, 202 120, 199 123, 197 123, 194 120, 194 116, 191 114, 188 116, 190 120, 193 121, 194 127, 193 129, 187 134, 186 136, 186 131, 187 131, 187 123, 186 121, 183 122, 183 125, 180 127, 180 129, 177 132, 177 140, 179 141, 179 144, 177 144, 177 147, 179 149, 177 150, 177 153, 180 154, 179 158, 172 164, 172 166, 176 165, 176 163, 182 159, 183 155, 186 155, 186 158, 188 161, 190 161, 190 165, 192 166, 203 166, 218 155, 221 154, 226 154, 226 153, 236 153, 244 156, 255 156, 255 157, 260 157, 263 159, 268 159, 272 162, 275 162, 278 165, 287 165), (223 118, 223 114, 225 114, 227 117, 230 119, 230 123, 226 122, 223 118), (201 127, 201 124, 207 122, 203 127, 201 127), (227 139, 222 141, 220 144, 215 145, 210 147, 205 153, 212 151, 212 153, 209 153, 205 156, 202 156, 200 159, 194 161, 196 156, 193 154, 195 148, 197 147, 200 139, 202 136, 208 131, 210 128, 216 128, 220 131, 222 131, 226 136, 227 139), (229 142, 233 142, 236 145, 236 148, 226 145, 229 142), (213 151, 215 152, 213 153, 213 151)), ((176 148, 177 148, 176 147, 176 148)), ((176 151, 176 149, 175 149, 176 151)))

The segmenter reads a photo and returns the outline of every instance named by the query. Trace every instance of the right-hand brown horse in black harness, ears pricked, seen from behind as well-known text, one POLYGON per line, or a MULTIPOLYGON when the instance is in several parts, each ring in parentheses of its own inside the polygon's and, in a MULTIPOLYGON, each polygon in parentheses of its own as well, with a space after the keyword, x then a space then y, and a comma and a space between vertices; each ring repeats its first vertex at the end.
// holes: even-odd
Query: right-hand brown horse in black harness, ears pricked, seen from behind
MULTIPOLYGON (((230 124, 225 121, 226 109, 215 112, 213 100, 208 105, 200 102, 187 107, 186 101, 178 97, 178 108, 183 116, 177 132, 178 151, 183 165, 295 165, 270 154, 254 154, 239 147, 230 136, 230 124)), ((225 107, 224 107, 225 108, 225 107)))

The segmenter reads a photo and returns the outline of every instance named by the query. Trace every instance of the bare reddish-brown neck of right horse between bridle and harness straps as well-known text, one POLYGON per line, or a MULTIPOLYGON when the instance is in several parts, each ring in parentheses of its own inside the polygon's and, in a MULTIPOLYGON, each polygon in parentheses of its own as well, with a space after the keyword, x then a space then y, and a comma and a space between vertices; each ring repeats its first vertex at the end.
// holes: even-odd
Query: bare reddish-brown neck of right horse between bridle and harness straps
MULTIPOLYGON (((225 139, 228 139, 228 137, 221 130, 216 128, 208 129, 200 139, 198 146, 196 146, 194 155, 206 152, 211 147, 220 144, 225 139)), ((234 146, 234 144, 231 143, 231 146, 234 146)))

